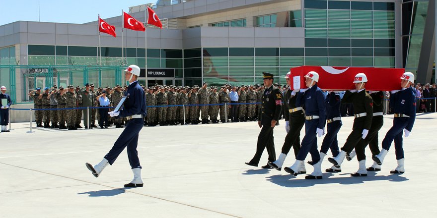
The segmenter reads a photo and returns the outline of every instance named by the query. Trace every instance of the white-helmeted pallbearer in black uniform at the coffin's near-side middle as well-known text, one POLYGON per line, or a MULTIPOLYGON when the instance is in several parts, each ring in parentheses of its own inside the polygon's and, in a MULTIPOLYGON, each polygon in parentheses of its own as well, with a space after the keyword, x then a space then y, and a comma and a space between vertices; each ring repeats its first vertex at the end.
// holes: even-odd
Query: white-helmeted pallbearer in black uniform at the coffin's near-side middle
POLYGON ((355 148, 359 163, 358 171, 352 173, 351 176, 367 176, 365 168, 364 154, 364 139, 367 137, 370 129, 373 116, 373 101, 369 94, 365 91, 367 77, 364 73, 359 73, 355 76, 355 89, 346 91, 342 99, 342 104, 352 103, 354 107, 354 125, 352 132, 346 139, 345 145, 341 148, 341 152, 337 157, 328 158, 328 161, 336 167, 340 167, 343 163, 346 154, 351 153, 355 148))

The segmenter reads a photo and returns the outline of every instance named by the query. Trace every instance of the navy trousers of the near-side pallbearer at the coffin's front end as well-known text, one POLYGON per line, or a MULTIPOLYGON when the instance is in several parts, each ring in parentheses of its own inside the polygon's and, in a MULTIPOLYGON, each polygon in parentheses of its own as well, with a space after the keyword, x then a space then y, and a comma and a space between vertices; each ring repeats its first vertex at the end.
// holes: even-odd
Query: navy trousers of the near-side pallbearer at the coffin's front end
POLYGON ((311 154, 312 163, 320 161, 319 151, 317 150, 316 130, 319 119, 305 120, 305 136, 302 139, 302 147, 297 154, 296 160, 304 161, 308 152, 311 154))

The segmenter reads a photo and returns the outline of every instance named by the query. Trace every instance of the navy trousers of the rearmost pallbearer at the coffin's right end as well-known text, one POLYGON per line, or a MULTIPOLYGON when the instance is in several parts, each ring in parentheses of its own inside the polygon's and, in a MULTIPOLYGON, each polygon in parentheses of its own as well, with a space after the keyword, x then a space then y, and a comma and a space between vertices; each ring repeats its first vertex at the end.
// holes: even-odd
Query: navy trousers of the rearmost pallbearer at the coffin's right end
POLYGON ((382 140, 382 148, 390 149, 391 143, 394 140, 394 148, 396 150, 396 160, 404 158, 404 149, 402 148, 402 130, 408 125, 409 117, 393 118, 393 126, 388 130, 385 138, 382 140))

